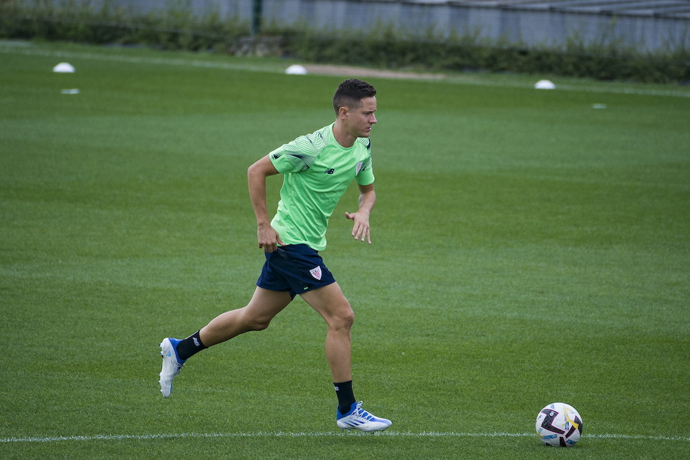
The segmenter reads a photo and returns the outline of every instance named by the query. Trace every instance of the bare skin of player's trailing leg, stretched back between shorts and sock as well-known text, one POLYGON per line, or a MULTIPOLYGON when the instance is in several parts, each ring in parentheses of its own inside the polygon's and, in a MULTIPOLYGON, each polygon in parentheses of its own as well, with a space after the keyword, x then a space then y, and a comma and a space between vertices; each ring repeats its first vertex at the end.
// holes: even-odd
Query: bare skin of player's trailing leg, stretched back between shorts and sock
POLYGON ((250 330, 264 330, 291 300, 288 292, 257 287, 246 307, 220 314, 201 328, 201 343, 210 347, 250 330))

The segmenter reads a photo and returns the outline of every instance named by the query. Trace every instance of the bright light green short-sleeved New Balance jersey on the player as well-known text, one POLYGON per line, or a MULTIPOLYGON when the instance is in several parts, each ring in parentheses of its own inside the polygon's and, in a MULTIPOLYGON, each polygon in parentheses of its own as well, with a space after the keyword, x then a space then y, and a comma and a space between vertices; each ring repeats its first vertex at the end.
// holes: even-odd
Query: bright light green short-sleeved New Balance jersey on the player
POLYGON ((286 244, 324 250, 328 219, 352 180, 361 186, 374 182, 371 141, 360 137, 354 146, 344 148, 333 136, 333 124, 268 154, 275 169, 284 174, 270 225, 286 244))

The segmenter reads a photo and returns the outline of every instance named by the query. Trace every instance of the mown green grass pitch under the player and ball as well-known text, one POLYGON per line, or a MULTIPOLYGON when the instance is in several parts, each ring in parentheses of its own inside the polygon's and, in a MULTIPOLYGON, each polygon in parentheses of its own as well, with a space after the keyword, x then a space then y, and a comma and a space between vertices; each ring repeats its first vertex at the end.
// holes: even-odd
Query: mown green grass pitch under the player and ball
POLYGON ((393 426, 337 430, 300 299, 164 400, 161 339, 253 292, 246 168, 333 119, 348 76, 289 64, 0 42, 0 457, 690 457, 687 87, 367 78, 373 244, 342 217, 353 186, 324 258, 355 396, 393 426), (555 401, 582 414, 574 448, 534 434, 555 401))

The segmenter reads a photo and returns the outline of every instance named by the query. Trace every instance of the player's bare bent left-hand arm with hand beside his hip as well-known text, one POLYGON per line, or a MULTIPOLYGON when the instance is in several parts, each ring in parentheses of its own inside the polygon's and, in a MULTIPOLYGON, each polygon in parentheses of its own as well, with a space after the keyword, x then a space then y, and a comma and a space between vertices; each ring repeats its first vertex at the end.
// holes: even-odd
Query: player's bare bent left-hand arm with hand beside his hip
POLYGON ((278 245, 284 246, 278 232, 270 226, 268 206, 266 206, 266 177, 275 174, 278 174, 278 170, 270 162, 268 155, 254 163, 247 170, 249 198, 252 201, 254 214, 257 218, 259 248, 263 248, 264 252, 273 252, 277 250, 278 245))

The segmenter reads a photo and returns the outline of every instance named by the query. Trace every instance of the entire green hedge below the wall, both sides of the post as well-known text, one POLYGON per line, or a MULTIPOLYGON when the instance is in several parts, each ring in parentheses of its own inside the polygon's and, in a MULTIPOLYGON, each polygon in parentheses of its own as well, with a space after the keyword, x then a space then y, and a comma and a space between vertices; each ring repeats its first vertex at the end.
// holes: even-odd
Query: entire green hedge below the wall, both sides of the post
MULTIPOLYGON (((250 25, 219 14, 193 15, 186 2, 172 1, 164 11, 141 14, 115 8, 108 1, 97 10, 88 0, 55 6, 50 0, 0 0, 0 38, 142 44, 166 50, 235 52, 250 25)), ((619 41, 585 44, 571 37, 560 48, 528 47, 503 40, 480 39, 477 33, 415 37, 380 24, 372 34, 311 30, 306 26, 264 29, 281 37, 276 54, 319 63, 436 71, 481 70, 555 74, 604 80, 689 83, 690 50, 639 52, 619 41)))

